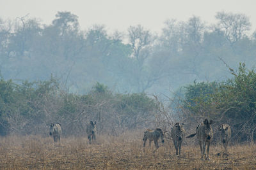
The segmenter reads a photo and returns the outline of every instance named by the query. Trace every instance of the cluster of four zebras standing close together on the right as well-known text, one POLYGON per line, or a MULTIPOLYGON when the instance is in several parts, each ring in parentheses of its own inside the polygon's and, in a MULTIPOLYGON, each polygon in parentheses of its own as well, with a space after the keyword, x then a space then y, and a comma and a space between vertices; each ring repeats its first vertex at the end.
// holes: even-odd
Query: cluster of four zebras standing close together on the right
MULTIPOLYGON (((205 160, 209 160, 209 150, 210 150, 210 145, 213 138, 213 132, 211 127, 212 123, 213 123, 212 120, 209 121, 205 119, 203 122, 201 122, 196 126, 196 132, 194 134, 190 134, 189 136, 186 137, 186 138, 192 138, 196 136, 200 146, 200 150, 201 150, 201 159, 205 159, 205 160), (205 150, 207 153, 205 153, 205 150)), ((218 127, 218 131, 221 132, 221 143, 225 148, 225 152, 227 152, 228 142, 230 141, 230 138, 231 138, 230 125, 221 124, 218 127)), ((186 131, 184 130, 184 124, 176 123, 172 126, 170 134, 173 141, 173 145, 175 146, 176 155, 178 155, 178 151, 180 155, 180 149, 181 149, 182 141, 185 138, 185 132, 186 131)), ((159 128, 155 130, 147 129, 144 132, 143 147, 145 147, 145 143, 148 139, 149 146, 151 141, 154 140, 156 148, 158 148, 159 146, 157 141, 159 138, 161 138, 162 142, 164 142, 163 137, 164 137, 164 132, 161 129, 159 128)))

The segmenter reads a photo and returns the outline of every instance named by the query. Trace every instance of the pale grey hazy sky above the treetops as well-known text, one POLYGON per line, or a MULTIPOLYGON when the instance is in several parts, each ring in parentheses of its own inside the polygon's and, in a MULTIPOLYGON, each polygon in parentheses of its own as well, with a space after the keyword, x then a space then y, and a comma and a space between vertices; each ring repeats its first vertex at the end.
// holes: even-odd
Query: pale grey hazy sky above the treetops
POLYGON ((104 24, 108 31, 126 31, 141 24, 160 32, 166 19, 186 21, 193 15, 209 23, 216 22, 217 11, 244 13, 256 27, 255 0, 0 0, 0 18, 15 19, 29 13, 51 24, 57 11, 70 11, 79 17, 81 29, 104 24))

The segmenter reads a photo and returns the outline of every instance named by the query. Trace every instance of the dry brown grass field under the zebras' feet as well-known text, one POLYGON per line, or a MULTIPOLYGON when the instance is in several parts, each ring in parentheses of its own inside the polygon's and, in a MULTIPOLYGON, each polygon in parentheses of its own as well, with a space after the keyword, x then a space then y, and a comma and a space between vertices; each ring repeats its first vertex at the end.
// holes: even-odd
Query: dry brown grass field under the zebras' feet
POLYGON ((184 146, 176 156, 166 140, 155 153, 148 143, 143 152, 141 134, 132 136, 99 136, 93 145, 86 138, 56 144, 40 136, 9 136, 0 139, 0 169, 256 169, 255 145, 232 146, 227 158, 217 155, 220 146, 212 146, 211 160, 204 161, 198 146, 184 146))

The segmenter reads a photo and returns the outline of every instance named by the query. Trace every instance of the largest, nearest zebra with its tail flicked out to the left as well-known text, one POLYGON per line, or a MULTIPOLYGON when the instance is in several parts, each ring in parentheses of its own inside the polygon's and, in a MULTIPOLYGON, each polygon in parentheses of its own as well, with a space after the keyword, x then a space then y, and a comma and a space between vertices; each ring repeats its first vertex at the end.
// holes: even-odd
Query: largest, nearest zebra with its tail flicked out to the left
POLYGON ((205 119, 204 122, 201 122, 196 126, 195 134, 191 134, 186 137, 186 138, 191 138, 196 135, 200 145, 201 154, 202 154, 201 159, 205 158, 205 160, 206 159, 210 160, 209 149, 210 149, 211 139, 213 137, 212 127, 211 127, 212 123, 213 123, 212 120, 210 120, 209 122, 207 119, 205 119), (207 145, 207 155, 205 154, 206 145, 207 145))

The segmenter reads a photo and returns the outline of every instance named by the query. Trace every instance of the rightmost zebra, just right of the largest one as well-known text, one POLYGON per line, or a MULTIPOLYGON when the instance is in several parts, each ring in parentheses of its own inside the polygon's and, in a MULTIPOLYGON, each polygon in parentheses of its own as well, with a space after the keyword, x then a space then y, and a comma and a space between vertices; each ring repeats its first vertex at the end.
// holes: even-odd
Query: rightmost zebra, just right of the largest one
POLYGON ((228 124, 221 124, 218 127, 218 130, 221 132, 221 142, 223 143, 225 152, 227 153, 227 146, 231 138, 231 128, 228 124))

